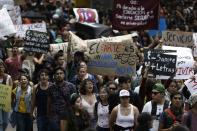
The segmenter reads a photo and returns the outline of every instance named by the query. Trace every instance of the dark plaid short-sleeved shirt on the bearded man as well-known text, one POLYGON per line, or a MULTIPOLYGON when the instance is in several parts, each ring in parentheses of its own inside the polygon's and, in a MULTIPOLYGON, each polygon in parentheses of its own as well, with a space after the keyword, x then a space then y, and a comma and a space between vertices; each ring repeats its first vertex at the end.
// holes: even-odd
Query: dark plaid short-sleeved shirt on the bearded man
POLYGON ((64 81, 61 85, 54 83, 49 87, 50 115, 52 117, 59 118, 66 108, 70 107, 69 99, 72 93, 76 93, 76 88, 70 82, 64 81))

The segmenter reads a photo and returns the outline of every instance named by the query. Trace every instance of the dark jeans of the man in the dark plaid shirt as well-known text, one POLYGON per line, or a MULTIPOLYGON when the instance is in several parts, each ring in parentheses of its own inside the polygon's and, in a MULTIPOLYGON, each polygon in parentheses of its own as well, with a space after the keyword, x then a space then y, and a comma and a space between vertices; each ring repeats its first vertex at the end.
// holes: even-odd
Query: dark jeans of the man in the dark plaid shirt
POLYGON ((49 119, 48 131, 60 131, 60 121, 49 119))

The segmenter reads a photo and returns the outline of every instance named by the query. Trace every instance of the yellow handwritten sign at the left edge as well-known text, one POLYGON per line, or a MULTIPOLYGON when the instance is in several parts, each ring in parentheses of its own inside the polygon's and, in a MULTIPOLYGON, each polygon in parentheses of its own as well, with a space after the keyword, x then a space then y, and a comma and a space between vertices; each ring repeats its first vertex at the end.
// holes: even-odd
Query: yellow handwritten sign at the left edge
POLYGON ((0 109, 6 112, 11 110, 12 87, 0 84, 0 109))

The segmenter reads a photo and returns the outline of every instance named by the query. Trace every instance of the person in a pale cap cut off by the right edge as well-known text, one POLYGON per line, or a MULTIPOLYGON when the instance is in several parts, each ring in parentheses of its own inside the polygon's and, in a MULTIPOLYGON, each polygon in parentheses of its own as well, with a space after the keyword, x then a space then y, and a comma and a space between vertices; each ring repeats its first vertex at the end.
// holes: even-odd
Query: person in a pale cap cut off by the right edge
POLYGON ((190 131, 197 129, 197 94, 193 94, 189 98, 191 109, 183 115, 182 124, 187 126, 190 131))

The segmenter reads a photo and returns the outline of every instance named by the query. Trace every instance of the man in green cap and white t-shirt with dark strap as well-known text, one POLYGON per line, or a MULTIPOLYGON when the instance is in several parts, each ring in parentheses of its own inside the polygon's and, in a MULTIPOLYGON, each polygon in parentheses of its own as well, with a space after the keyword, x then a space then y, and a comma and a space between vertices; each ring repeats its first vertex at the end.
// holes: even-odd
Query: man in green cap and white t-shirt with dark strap
POLYGON ((147 102, 142 110, 142 112, 148 112, 153 116, 152 131, 158 131, 159 117, 168 106, 169 102, 165 100, 165 87, 156 83, 152 90, 152 101, 147 102))

